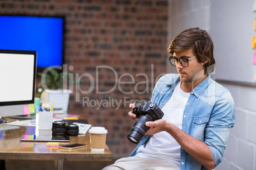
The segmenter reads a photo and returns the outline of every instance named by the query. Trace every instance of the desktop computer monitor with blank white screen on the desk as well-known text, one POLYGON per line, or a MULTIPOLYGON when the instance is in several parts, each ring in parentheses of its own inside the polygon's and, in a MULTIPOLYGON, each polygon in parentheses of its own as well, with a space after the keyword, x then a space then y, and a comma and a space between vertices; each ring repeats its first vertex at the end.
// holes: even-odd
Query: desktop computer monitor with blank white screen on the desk
POLYGON ((0 117, 23 115, 34 103, 36 56, 36 51, 0 49, 0 117))

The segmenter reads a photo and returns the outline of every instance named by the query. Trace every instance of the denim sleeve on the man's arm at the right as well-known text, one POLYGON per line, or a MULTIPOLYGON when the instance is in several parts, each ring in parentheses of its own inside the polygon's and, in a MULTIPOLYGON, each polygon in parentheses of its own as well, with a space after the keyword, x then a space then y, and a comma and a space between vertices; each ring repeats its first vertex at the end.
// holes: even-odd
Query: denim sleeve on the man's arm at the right
POLYGON ((235 105, 231 93, 226 91, 219 96, 210 120, 206 124, 204 143, 208 145, 217 166, 224 155, 229 132, 235 123, 235 105))

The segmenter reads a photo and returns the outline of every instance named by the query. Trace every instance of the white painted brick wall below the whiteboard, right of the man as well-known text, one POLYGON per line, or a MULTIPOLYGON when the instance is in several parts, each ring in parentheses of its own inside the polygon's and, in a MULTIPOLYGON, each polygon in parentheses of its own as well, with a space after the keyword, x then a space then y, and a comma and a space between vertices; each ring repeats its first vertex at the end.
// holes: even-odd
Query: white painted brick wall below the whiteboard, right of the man
POLYGON ((224 159, 218 169, 256 169, 256 88, 222 84, 234 98, 236 124, 231 130, 224 159))

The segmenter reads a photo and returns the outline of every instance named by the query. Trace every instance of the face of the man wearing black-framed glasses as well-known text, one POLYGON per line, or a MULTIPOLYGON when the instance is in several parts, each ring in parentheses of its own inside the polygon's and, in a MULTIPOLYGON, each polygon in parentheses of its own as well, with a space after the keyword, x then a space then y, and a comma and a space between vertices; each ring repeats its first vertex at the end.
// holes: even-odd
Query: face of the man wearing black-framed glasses
MULTIPOLYGON (((173 53, 173 56, 180 59, 180 58, 191 58, 195 56, 192 49, 188 49, 182 51, 180 53, 173 53)), ((204 63, 198 63, 197 58, 192 58, 188 61, 188 67, 183 67, 180 62, 176 63, 176 69, 178 74, 180 75, 181 82, 193 82, 200 77, 203 77, 204 74, 204 63)))

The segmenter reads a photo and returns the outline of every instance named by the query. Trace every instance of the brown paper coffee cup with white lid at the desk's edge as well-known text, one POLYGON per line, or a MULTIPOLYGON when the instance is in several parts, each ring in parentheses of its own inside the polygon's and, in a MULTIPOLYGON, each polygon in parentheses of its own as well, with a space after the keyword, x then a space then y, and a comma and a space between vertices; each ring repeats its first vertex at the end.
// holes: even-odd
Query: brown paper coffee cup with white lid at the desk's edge
POLYGON ((104 127, 92 127, 89 129, 90 148, 95 152, 103 152, 105 150, 106 134, 108 130, 104 127))

